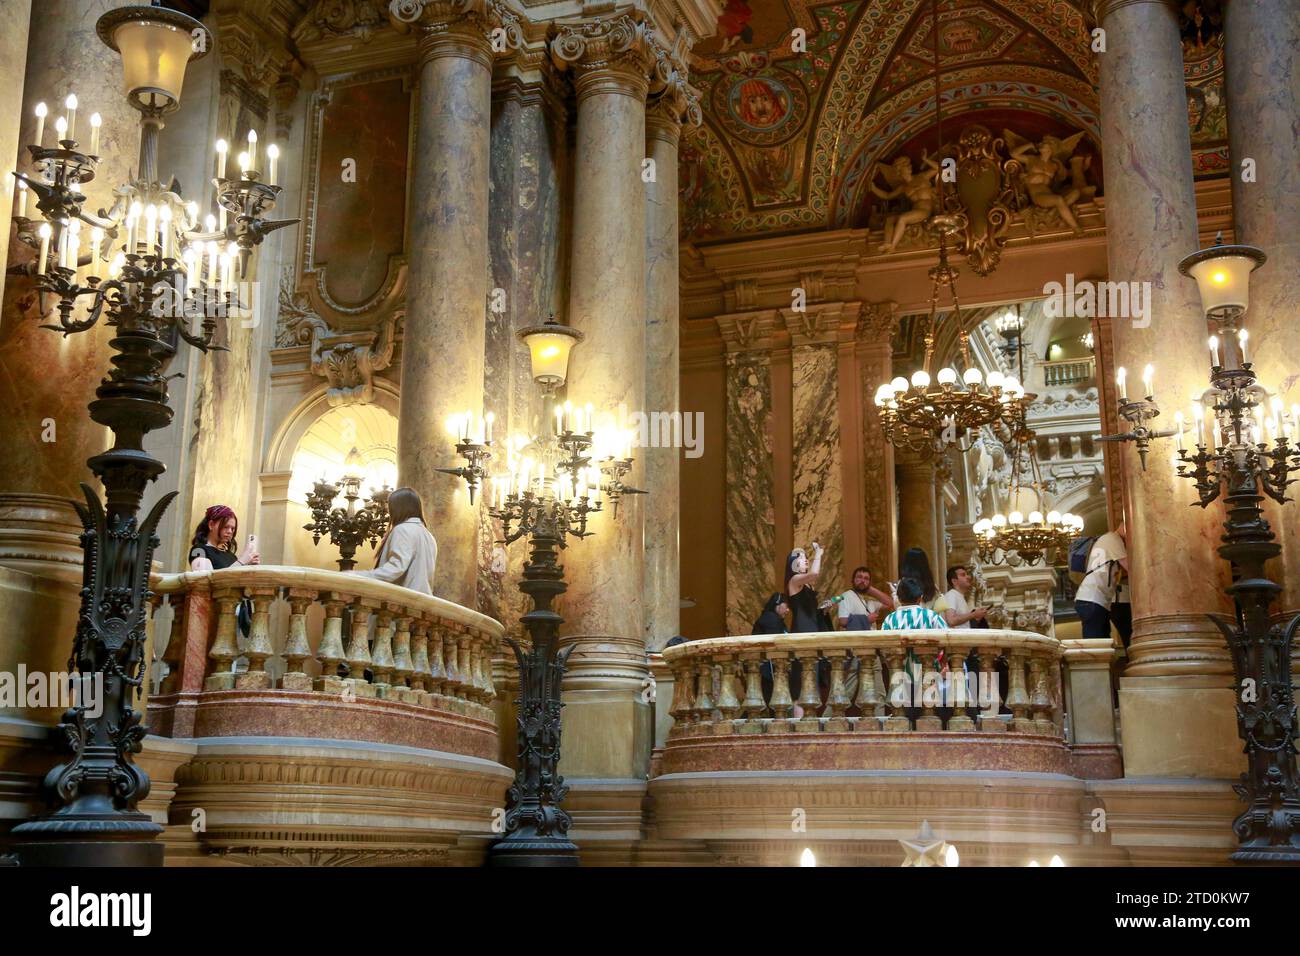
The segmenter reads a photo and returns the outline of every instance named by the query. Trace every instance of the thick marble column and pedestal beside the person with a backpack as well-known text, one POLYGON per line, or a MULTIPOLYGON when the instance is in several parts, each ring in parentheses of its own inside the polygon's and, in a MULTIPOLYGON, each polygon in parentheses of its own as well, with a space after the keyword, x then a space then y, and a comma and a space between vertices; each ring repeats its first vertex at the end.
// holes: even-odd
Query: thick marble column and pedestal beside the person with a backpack
MULTIPOLYGON (((1196 285, 1178 263, 1199 247, 1183 53, 1175 4, 1100 0, 1109 280, 1149 290, 1145 320, 1114 317, 1115 363, 1130 382, 1156 365, 1162 408, 1186 406, 1206 386, 1206 324, 1196 285)), ((1141 471, 1121 451, 1126 481, 1134 637, 1121 683, 1130 775, 1235 777, 1240 745, 1228 688, 1231 661, 1206 618, 1226 610, 1221 516, 1192 507, 1167 442, 1141 471)))

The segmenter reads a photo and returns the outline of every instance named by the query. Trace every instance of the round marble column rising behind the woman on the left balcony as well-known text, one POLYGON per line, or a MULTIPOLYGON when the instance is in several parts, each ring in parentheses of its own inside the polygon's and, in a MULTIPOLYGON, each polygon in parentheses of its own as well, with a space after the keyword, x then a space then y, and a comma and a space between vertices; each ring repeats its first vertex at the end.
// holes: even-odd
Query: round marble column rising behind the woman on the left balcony
MULTIPOLYGON (((484 408, 491 44, 486 0, 420 8, 410 271, 402 343, 398 480, 420 493, 438 540, 438 597, 473 607, 478 515, 452 462, 447 420, 484 408)), ((476 506, 481 502, 476 498, 476 506)))

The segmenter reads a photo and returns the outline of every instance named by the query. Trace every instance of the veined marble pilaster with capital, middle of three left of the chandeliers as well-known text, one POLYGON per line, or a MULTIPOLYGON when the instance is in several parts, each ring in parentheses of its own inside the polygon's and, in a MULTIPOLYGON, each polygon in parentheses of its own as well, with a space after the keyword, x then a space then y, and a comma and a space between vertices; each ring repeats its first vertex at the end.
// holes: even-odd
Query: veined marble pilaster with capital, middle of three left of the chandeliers
POLYGON ((854 302, 781 310, 790 336, 794 546, 809 549, 815 541, 824 549, 823 597, 844 589, 838 342, 841 324, 857 325, 859 308, 854 302))

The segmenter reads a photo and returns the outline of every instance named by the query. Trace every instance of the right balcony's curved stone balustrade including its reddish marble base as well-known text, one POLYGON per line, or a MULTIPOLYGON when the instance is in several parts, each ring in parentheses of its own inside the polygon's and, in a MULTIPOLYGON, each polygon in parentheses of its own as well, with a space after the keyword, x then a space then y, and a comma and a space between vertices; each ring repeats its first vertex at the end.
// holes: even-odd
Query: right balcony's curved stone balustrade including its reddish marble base
POLYGON ((1009 630, 841 631, 682 644, 663 653, 673 675, 663 773, 1067 773, 1061 658, 1054 637, 1009 630))

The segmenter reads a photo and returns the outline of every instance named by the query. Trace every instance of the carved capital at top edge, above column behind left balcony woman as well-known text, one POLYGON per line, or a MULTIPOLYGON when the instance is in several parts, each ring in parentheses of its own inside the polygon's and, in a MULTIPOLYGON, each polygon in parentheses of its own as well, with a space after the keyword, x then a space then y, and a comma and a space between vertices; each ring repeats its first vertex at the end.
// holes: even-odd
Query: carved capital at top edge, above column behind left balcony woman
POLYGON ((390 0, 389 17, 420 31, 421 64, 455 56, 490 69, 494 53, 524 42, 517 17, 495 0, 390 0))

